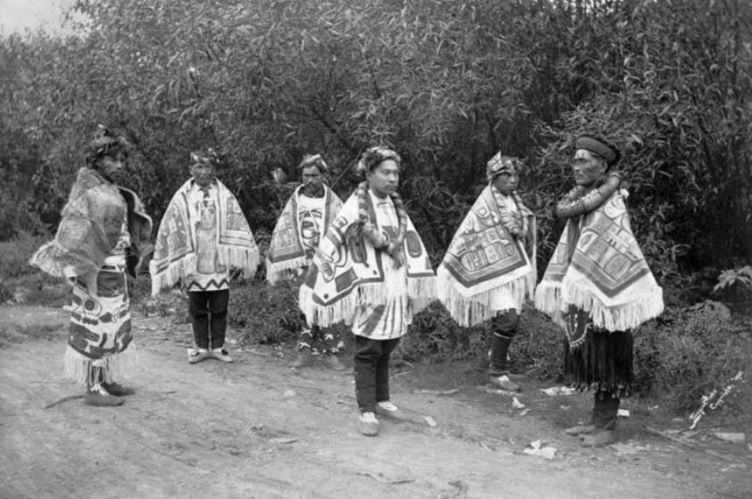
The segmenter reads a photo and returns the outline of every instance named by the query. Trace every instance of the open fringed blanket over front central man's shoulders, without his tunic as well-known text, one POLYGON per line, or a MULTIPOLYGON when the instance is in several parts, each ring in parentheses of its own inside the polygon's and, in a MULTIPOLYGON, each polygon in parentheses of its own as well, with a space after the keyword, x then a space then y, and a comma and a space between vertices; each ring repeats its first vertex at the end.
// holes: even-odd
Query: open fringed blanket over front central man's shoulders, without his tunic
MULTIPOLYGON (((376 220, 371 195, 366 195, 369 220, 376 220)), ((358 195, 351 195, 327 229, 300 287, 300 309, 311 324, 351 324, 360 306, 408 301, 417 313, 436 297, 436 277, 421 237, 407 217, 402 251, 405 279, 401 289, 384 285, 384 265, 393 259, 363 241, 359 232, 358 195)), ((387 229, 397 236, 397 227, 387 229)))

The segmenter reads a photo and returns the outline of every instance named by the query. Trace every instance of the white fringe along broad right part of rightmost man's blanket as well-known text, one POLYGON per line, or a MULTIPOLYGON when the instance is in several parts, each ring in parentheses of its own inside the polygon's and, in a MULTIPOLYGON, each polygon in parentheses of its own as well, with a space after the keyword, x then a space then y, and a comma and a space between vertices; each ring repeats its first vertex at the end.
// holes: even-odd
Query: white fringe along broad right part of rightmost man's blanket
POLYGON ((581 285, 566 285, 562 290, 561 312, 569 305, 589 312, 593 324, 607 331, 626 331, 635 329, 646 320, 654 319, 664 312, 663 290, 660 287, 633 292, 635 298, 628 304, 606 306, 590 290, 581 285))

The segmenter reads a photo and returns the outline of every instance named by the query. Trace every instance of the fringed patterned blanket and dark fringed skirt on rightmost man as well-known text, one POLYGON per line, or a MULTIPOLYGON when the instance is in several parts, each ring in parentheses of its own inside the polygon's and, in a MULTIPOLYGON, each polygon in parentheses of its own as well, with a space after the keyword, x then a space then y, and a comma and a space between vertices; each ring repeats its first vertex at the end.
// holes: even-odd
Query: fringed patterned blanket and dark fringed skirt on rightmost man
POLYGON ((618 190, 567 221, 535 305, 564 328, 564 370, 580 387, 623 393, 632 378, 632 336, 664 310, 663 290, 630 228, 618 190))

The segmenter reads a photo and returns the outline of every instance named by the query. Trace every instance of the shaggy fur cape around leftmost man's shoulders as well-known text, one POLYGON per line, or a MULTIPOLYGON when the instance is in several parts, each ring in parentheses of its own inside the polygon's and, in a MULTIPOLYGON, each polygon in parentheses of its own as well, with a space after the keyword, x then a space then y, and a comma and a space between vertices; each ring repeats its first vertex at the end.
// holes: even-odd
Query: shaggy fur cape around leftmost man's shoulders
POLYGON ((152 220, 138 196, 107 182, 96 170, 79 170, 62 216, 54 240, 29 260, 53 276, 96 274, 118 243, 123 220, 128 220, 130 254, 140 257, 151 249, 152 220))

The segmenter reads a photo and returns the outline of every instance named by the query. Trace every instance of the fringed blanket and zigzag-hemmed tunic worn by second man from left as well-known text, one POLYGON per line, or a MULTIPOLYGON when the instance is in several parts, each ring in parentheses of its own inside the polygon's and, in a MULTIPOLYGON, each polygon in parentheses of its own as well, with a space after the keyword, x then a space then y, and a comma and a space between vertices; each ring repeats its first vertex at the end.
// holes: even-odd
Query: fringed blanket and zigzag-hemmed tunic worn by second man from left
POLYGON ((204 278, 214 273, 226 276, 232 268, 243 270, 246 278, 255 273, 258 247, 238 200, 215 180, 214 208, 202 210, 193 187, 193 179, 188 179, 178 189, 159 225, 155 254, 149 263, 152 295, 179 281, 185 282, 189 291, 227 289, 226 281, 204 278))

